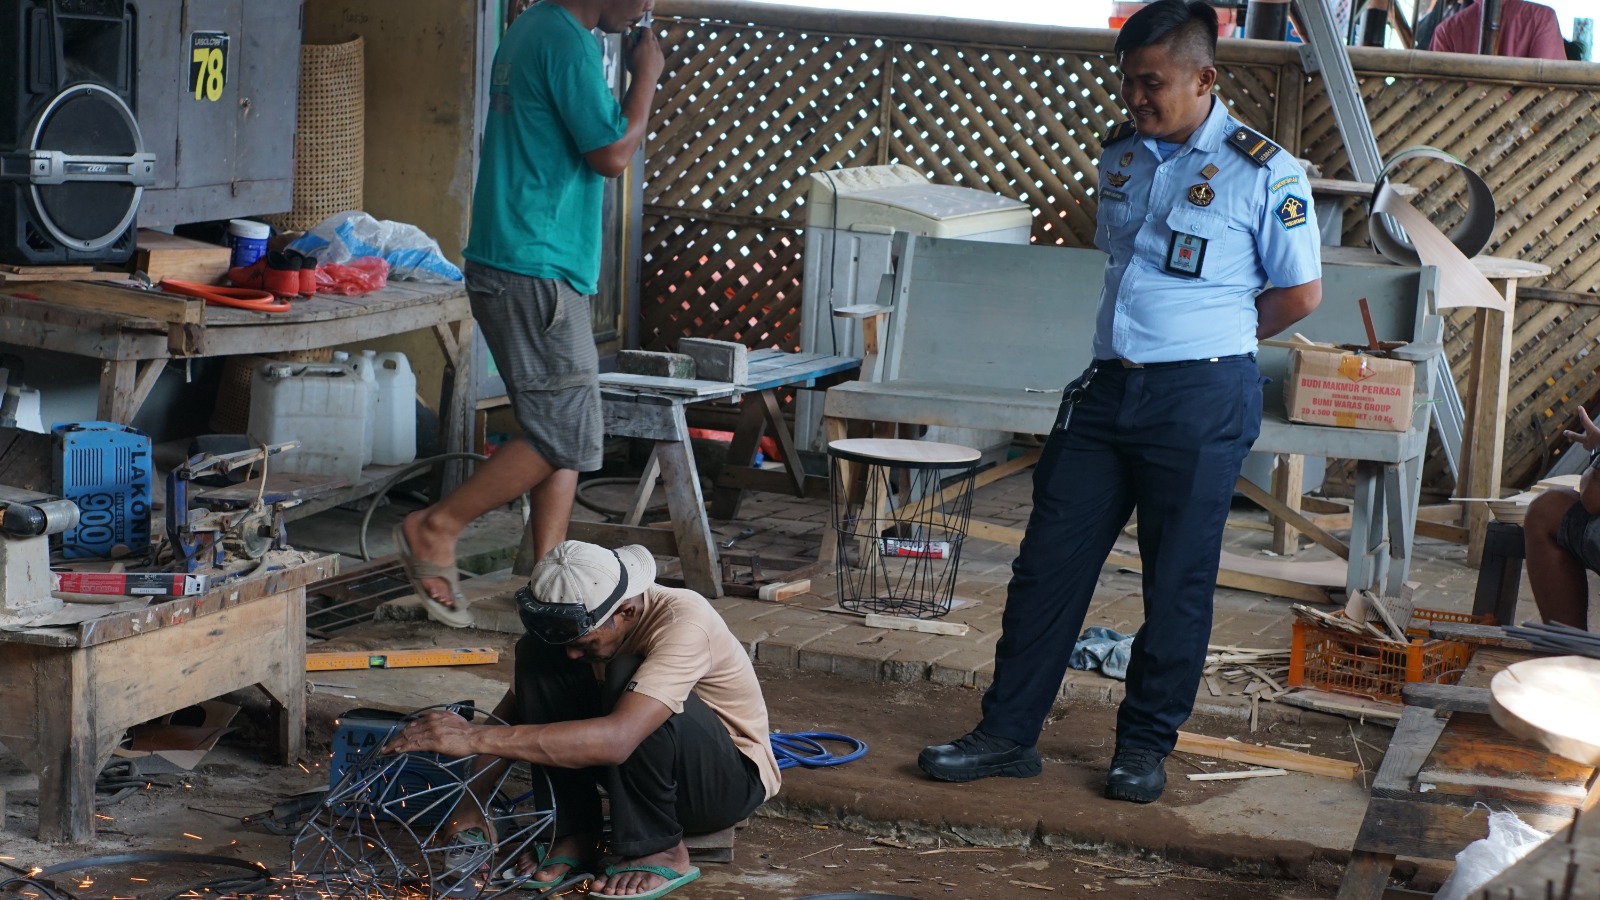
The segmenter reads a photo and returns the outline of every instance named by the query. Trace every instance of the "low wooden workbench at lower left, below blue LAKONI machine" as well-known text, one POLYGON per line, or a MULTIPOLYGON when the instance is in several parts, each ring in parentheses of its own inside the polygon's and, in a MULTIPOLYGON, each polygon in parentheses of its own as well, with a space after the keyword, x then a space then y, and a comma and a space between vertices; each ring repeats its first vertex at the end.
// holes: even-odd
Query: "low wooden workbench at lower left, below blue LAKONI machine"
POLYGON ((338 569, 338 557, 296 559, 198 597, 0 631, 0 743, 38 775, 38 839, 94 836, 94 778, 123 730, 230 690, 272 698, 278 761, 294 762, 306 746, 306 585, 338 569))

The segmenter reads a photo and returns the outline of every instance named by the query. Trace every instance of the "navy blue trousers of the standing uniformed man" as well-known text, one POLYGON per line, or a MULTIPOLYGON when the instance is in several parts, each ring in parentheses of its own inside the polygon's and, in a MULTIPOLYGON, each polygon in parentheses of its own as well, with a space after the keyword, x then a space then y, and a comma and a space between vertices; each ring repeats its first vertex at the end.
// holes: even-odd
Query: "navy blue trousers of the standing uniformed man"
POLYGON ((1034 471, 1034 514, 1011 564, 984 732, 1038 741, 1101 567, 1138 509, 1144 626, 1117 746, 1171 753, 1205 666, 1222 528, 1261 432, 1262 384, 1253 357, 1224 357, 1147 368, 1096 362, 1067 386, 1064 424, 1034 471))

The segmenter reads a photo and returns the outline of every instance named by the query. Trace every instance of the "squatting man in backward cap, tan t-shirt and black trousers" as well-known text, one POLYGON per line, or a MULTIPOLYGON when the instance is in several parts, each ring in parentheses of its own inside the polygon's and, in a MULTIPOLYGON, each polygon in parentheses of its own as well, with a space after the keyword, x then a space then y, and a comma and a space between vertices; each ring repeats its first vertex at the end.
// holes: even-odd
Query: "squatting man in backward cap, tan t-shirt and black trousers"
MULTIPOLYGON (((654 585, 642 546, 610 551, 566 541, 517 593, 528 634, 515 682, 494 714, 470 724, 435 711, 389 743, 525 759, 547 767, 555 841, 522 860, 534 882, 589 868, 600 841, 603 785, 611 850, 589 897, 661 897, 699 876, 683 834, 720 831, 778 793, 778 761, 755 669, 706 597, 654 585), (582 866, 582 868, 579 868, 582 866)), ((456 820, 458 833, 488 823, 456 820)))

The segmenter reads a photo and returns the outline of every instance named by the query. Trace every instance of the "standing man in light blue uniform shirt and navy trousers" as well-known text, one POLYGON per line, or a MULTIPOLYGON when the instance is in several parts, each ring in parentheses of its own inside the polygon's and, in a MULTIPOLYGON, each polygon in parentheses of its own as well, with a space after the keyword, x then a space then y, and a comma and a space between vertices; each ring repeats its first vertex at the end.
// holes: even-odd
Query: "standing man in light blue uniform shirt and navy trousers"
POLYGON ((1067 386, 1034 472, 982 721, 918 764, 949 781, 1040 772, 1040 729, 1138 509, 1144 626, 1106 796, 1150 802, 1194 708, 1222 525, 1261 431, 1256 341, 1315 309, 1322 263, 1306 173, 1211 94, 1216 13, 1157 0, 1115 46, 1133 120, 1099 163, 1094 245, 1110 259, 1094 364, 1067 386))

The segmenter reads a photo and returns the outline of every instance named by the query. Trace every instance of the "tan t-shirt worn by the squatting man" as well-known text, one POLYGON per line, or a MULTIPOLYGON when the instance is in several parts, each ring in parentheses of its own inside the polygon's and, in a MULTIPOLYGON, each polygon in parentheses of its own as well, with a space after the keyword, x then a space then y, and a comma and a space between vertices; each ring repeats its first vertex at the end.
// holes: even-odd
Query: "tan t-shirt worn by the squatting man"
POLYGON ((694 591, 651 585, 643 596, 645 612, 618 650, 645 658, 629 689, 674 713, 683 711, 690 690, 699 695, 728 729, 733 746, 760 769, 771 799, 781 783, 778 759, 766 738, 766 700, 744 645, 694 591))

